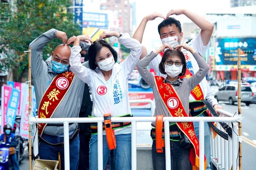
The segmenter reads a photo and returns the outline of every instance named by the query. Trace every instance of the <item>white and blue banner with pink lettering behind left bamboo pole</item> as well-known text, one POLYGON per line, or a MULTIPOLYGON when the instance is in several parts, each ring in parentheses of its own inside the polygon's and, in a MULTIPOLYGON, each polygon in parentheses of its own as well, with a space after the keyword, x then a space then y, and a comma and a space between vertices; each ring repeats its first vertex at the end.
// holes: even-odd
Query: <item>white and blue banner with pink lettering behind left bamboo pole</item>
MULTIPOLYGON (((35 88, 32 86, 32 110, 31 115, 36 115, 35 88)), ((20 105, 20 136, 29 139, 29 85, 21 84, 21 105, 20 105)))

